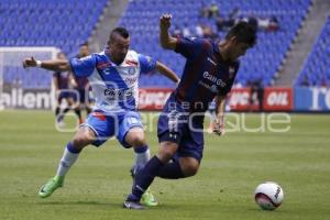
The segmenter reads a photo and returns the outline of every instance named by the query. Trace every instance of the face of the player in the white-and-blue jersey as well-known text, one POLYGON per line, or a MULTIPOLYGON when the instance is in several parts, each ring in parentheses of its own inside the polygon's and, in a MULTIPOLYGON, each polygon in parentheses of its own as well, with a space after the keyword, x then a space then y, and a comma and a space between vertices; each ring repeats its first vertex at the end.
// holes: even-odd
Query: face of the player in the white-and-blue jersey
POLYGON ((121 64, 130 48, 130 37, 124 38, 116 34, 109 44, 110 57, 116 64, 121 64))

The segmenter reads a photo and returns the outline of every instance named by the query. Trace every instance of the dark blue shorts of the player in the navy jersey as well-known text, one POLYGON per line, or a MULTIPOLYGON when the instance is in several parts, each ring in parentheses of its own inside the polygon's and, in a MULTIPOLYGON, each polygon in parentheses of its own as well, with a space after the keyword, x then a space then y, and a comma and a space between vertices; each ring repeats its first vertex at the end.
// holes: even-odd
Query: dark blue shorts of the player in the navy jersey
POLYGON ((175 157, 194 157, 200 162, 204 151, 202 128, 202 120, 194 120, 170 96, 158 119, 158 141, 177 143, 175 157))

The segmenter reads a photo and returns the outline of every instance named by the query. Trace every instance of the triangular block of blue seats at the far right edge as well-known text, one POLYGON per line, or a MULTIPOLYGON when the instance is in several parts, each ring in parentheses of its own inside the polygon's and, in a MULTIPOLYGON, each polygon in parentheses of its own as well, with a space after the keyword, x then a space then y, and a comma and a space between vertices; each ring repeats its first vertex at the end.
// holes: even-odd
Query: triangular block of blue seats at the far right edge
POLYGON ((317 38, 304 68, 296 80, 297 86, 330 86, 330 16, 317 38))

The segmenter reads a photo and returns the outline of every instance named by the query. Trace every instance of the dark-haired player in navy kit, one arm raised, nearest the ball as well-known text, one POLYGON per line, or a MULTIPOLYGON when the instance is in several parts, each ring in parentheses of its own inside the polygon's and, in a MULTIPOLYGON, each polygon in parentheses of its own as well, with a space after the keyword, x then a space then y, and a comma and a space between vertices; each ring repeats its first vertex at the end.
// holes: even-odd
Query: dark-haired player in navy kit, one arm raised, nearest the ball
POLYGON ((238 58, 256 41, 255 30, 246 22, 231 28, 220 42, 176 38, 168 33, 170 19, 170 14, 160 19, 161 45, 182 54, 187 62, 180 82, 158 119, 158 153, 135 175, 132 193, 123 204, 128 209, 144 208, 141 195, 156 176, 177 179, 197 173, 204 151, 205 111, 216 98, 215 133, 221 135, 226 96, 240 66, 238 58))

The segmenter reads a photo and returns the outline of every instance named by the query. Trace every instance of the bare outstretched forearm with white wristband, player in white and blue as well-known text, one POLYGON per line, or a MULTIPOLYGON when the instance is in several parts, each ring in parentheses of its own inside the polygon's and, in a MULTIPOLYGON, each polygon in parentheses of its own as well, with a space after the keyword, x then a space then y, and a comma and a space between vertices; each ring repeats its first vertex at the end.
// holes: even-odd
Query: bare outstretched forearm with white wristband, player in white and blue
POLYGON ((68 61, 52 59, 52 61, 37 61, 33 56, 23 61, 23 67, 41 67, 53 72, 67 72, 72 70, 68 61))

